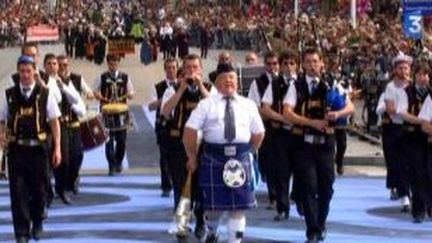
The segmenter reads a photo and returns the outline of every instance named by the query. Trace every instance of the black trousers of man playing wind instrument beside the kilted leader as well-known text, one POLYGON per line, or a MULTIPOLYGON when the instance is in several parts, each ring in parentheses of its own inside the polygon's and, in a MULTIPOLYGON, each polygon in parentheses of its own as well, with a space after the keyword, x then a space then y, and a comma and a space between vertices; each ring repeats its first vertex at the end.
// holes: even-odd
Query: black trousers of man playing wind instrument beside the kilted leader
MULTIPOLYGON (((181 193, 186 184, 188 171, 186 168, 187 155, 183 143, 180 139, 167 139, 168 148, 168 167, 171 171, 173 191, 174 191, 174 211, 180 201, 181 193)), ((201 191, 198 186, 198 171, 192 175, 192 207, 197 218, 197 222, 204 223, 204 210, 200 203, 201 191)))

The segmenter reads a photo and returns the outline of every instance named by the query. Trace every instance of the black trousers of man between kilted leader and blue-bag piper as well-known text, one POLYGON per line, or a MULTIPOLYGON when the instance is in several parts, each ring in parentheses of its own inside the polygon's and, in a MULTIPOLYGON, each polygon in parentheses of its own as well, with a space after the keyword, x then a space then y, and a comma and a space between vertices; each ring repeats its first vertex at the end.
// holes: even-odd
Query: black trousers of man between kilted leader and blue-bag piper
POLYGON ((290 131, 283 128, 270 130, 268 134, 272 136, 269 161, 272 161, 275 172, 275 178, 272 181, 275 182, 276 210, 278 213, 289 213, 289 189, 293 162, 292 135, 290 131))

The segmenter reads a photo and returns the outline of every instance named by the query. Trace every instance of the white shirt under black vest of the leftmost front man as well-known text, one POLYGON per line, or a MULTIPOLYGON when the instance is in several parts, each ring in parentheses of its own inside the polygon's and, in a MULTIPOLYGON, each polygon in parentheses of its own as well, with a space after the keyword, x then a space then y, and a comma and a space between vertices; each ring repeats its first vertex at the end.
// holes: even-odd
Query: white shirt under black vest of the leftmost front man
MULTIPOLYGON (((20 89, 21 89, 21 93, 24 94, 23 91, 23 86, 20 84, 20 89)), ((30 95, 32 94, 34 87, 36 85, 32 84, 29 88, 29 91, 25 94, 27 97, 30 97, 30 95)), ((6 92, 3 92, 3 94, 0 96, 0 98, 2 99, 0 104, 1 104, 1 109, 0 109, 0 121, 7 121, 8 120, 8 116, 9 116, 9 106, 8 103, 6 101, 6 92)), ((46 114, 47 114, 47 120, 53 120, 56 119, 58 117, 61 116, 61 112, 60 112, 60 108, 58 106, 58 103, 53 95, 53 93, 51 92, 51 90, 48 90, 48 100, 47 100, 47 107, 46 107, 46 114)))

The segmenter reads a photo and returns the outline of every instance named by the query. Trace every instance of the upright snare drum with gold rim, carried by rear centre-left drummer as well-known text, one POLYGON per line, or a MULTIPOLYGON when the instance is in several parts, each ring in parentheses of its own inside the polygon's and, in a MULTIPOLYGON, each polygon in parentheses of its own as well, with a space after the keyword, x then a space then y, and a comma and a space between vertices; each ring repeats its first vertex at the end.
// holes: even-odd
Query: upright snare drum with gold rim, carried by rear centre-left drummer
POLYGON ((130 126, 129 108, 123 103, 102 106, 103 121, 110 131, 127 129, 130 126))

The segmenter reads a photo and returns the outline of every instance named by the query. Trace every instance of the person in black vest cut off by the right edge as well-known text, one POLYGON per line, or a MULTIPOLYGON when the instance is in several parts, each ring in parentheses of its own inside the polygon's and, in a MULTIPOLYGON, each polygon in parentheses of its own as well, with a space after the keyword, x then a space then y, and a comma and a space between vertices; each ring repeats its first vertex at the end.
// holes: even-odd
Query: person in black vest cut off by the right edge
POLYGON ((411 214, 415 223, 424 221, 427 209, 430 208, 430 174, 426 166, 427 135, 421 130, 424 120, 429 121, 429 114, 420 109, 430 93, 429 75, 431 69, 427 63, 419 64, 414 71, 415 83, 406 87, 406 96, 397 109, 404 119, 402 142, 405 150, 405 163, 408 166, 408 178, 412 192, 411 214), (419 115, 419 117, 417 117, 419 115), (424 120, 421 120, 424 119, 424 120))

